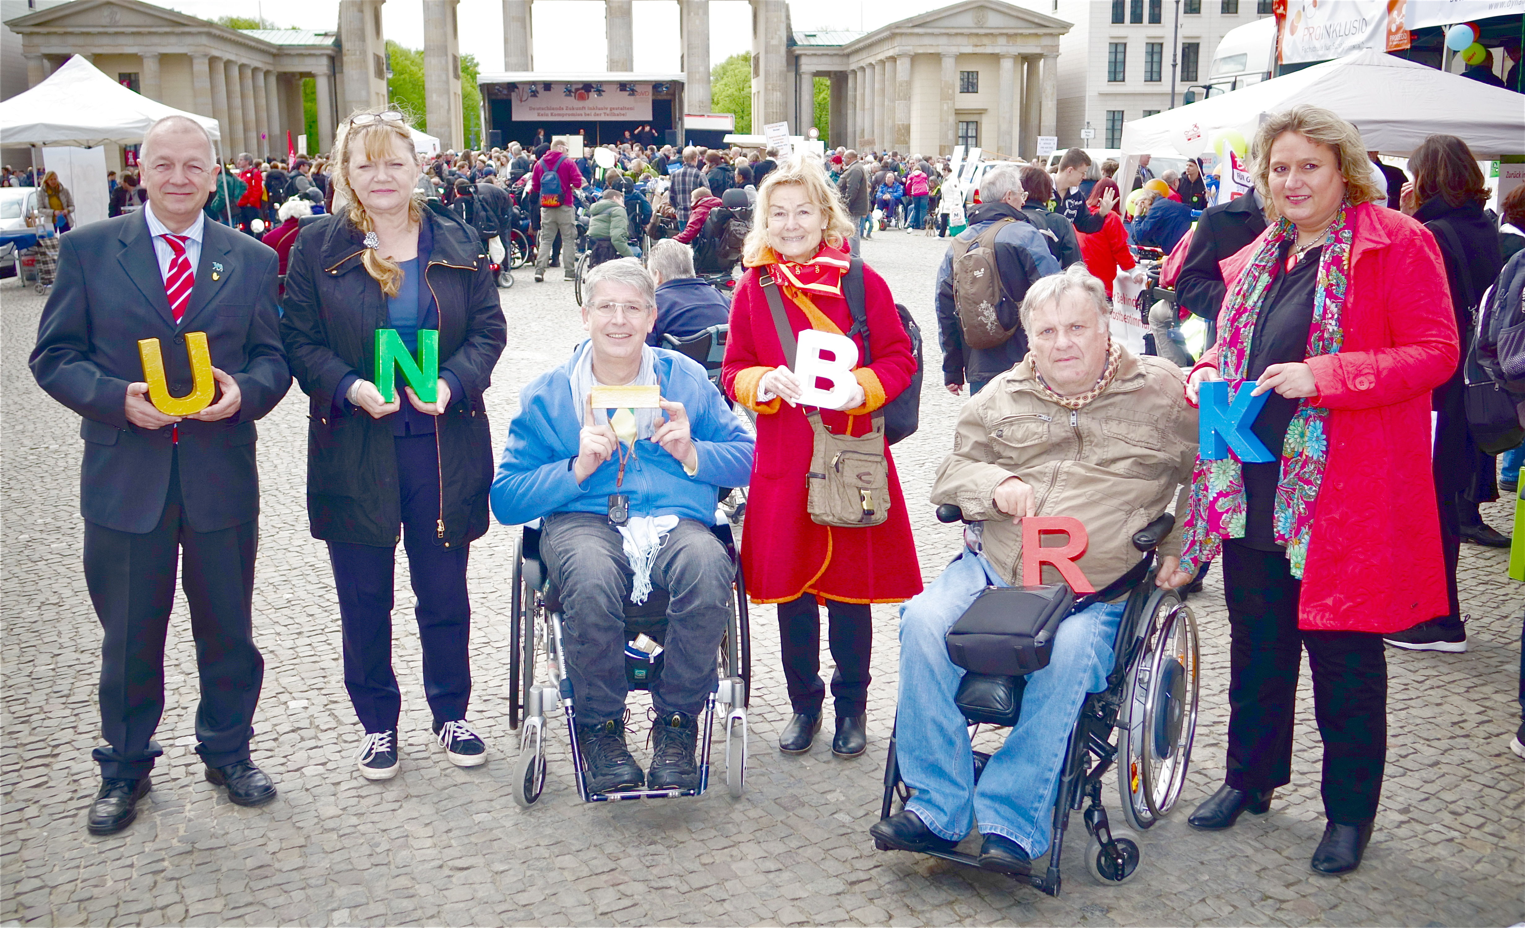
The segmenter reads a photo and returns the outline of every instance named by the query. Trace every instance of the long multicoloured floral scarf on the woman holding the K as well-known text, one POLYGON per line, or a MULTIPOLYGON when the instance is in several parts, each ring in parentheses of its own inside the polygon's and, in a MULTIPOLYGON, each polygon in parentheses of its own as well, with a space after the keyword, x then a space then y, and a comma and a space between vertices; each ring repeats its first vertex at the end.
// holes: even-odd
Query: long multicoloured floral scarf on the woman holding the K
MULTIPOLYGON (((1325 233, 1319 256, 1318 283, 1313 290, 1313 325, 1308 328, 1308 358, 1331 355, 1344 343, 1340 311, 1345 306, 1353 233, 1351 207, 1342 203, 1325 233)), ((1229 384, 1231 401, 1246 379, 1250 337, 1266 291, 1276 273, 1276 264, 1283 261, 1281 247, 1296 242, 1296 226, 1279 219, 1225 300, 1218 372, 1229 384)), ((1276 483, 1273 523, 1276 542, 1287 547, 1292 576, 1299 579, 1308 555, 1308 536, 1313 533, 1313 509, 1328 462, 1327 425, 1328 410, 1308 405, 1302 399, 1292 424, 1287 425, 1287 437, 1281 446, 1281 480, 1276 483)), ((1223 460, 1197 459, 1191 478, 1180 568, 1194 573, 1199 564, 1217 556, 1223 538, 1243 538, 1244 521, 1244 469, 1234 453, 1229 451, 1223 460)))

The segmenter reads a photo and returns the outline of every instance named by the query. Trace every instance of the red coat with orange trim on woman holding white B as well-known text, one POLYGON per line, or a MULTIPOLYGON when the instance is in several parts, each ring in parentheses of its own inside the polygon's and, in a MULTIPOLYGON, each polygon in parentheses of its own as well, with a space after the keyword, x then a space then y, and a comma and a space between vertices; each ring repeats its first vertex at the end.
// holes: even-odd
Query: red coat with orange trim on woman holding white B
MULTIPOLYGON (((868 398, 854 410, 859 413, 877 410, 898 396, 910 386, 915 372, 910 337, 895 312, 889 285, 866 265, 863 291, 874 363, 854 372, 868 398)), ((781 296, 796 334, 820 328, 811 326, 787 291, 781 296)), ((810 300, 843 334, 852 328, 845 299, 813 293, 810 300)), ((862 350, 863 337, 856 335, 854 340, 862 350)), ((921 593, 921 567, 895 459, 889 459, 891 506, 884 523, 869 529, 833 529, 811 521, 805 514, 805 472, 810 469, 813 439, 805 407, 791 407, 776 398, 764 404, 756 401, 762 375, 784 363, 773 312, 758 283, 758 268, 750 268, 730 303, 730 332, 721 372, 726 395, 758 413, 756 456, 741 533, 747 594, 759 603, 788 602, 805 593, 839 602, 910 599, 921 593)), ((865 434, 872 428, 866 414, 822 410, 820 421, 836 433, 865 434)), ((884 451, 889 454, 888 445, 884 451)))

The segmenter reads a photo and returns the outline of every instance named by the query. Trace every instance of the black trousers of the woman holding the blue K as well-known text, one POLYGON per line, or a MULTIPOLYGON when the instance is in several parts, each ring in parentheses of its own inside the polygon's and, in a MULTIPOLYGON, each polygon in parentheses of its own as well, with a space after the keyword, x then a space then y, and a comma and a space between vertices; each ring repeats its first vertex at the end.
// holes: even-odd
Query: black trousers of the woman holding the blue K
POLYGON ((1324 814, 1340 824, 1376 818, 1388 754, 1382 635, 1298 629, 1302 582, 1279 550, 1225 542, 1223 585, 1231 642, 1226 783, 1272 789, 1292 782, 1292 719, 1307 648, 1324 739, 1324 814))

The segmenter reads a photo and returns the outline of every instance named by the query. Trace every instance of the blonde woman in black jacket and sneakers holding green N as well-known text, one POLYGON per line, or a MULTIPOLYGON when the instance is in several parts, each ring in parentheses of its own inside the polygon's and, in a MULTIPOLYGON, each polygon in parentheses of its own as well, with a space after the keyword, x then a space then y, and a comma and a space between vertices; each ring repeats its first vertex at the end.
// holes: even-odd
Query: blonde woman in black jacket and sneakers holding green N
POLYGON ((311 398, 307 507, 328 542, 345 635, 345 687, 366 728, 357 765, 398 770, 401 695, 392 672, 392 576, 407 550, 418 597, 424 693, 458 766, 486 759, 467 725, 467 552, 488 526, 493 450, 482 393, 506 343, 476 230, 413 190, 418 157, 398 113, 361 111, 339 130, 332 181, 348 209, 305 226, 287 268, 281 337, 311 398), (416 354, 438 331, 435 402, 374 382, 377 329, 416 354), (401 530, 400 530, 401 526, 401 530))

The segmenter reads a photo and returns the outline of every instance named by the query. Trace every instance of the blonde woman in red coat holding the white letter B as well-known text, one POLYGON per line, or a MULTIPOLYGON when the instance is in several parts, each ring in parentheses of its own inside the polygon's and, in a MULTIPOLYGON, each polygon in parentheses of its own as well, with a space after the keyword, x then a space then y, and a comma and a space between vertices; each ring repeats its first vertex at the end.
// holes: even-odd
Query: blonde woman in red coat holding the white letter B
MULTIPOLYGON (((762 291, 764 276, 782 297, 790 328, 846 334, 852 315, 842 282, 849 268, 846 239, 852 222, 820 166, 796 160, 769 172, 758 190, 747 236, 747 273, 730 305, 730 334, 721 382, 726 393, 758 414, 756 460, 747 491, 741 535, 741 567, 755 602, 778 603, 784 678, 795 715, 779 734, 779 750, 804 754, 820 728, 825 684, 820 681, 820 613, 830 620, 831 677, 837 730, 831 750, 839 757, 863 754, 868 738, 869 652, 874 626, 869 603, 903 602, 921 591, 921 568, 910 538, 906 500, 895 462, 889 459, 889 518, 872 527, 830 527, 805 512, 805 474, 813 433, 805 407, 796 405, 801 384, 785 367, 773 311, 762 291)), ((839 434, 871 431, 872 416, 910 384, 915 358, 895 300, 883 277, 863 268, 868 335, 854 334, 872 363, 852 373, 857 386, 839 410, 819 410, 822 424, 839 434)), ((889 446, 884 446, 889 457, 889 446)))

